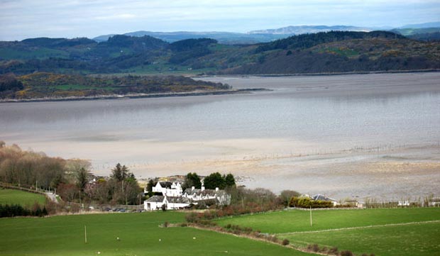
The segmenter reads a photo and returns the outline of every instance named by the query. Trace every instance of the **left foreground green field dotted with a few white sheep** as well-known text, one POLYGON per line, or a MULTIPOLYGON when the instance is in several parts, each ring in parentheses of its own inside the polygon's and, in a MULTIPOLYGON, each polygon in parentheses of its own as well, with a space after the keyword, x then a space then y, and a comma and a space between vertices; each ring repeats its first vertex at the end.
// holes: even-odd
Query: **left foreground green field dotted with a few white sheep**
POLYGON ((306 255, 212 231, 159 228, 165 221, 182 222, 184 213, 0 219, 0 255, 306 255))

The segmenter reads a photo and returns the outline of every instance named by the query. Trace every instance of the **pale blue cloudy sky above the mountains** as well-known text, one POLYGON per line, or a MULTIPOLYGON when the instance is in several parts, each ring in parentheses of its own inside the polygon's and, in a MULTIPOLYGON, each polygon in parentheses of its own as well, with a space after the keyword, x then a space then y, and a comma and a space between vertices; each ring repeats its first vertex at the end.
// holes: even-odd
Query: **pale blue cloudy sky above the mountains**
POLYGON ((0 40, 440 21, 440 0, 0 0, 0 40))

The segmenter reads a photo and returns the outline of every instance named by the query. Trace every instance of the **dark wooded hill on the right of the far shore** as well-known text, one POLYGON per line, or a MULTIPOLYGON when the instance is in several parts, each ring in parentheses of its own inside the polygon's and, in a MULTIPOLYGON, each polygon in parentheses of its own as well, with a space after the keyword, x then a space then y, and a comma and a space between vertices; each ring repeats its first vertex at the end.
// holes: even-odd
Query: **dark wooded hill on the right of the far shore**
POLYGON ((221 72, 301 74, 440 69, 440 43, 410 40, 381 31, 323 33, 321 38, 319 34, 261 45, 255 50, 261 52, 258 62, 221 72))

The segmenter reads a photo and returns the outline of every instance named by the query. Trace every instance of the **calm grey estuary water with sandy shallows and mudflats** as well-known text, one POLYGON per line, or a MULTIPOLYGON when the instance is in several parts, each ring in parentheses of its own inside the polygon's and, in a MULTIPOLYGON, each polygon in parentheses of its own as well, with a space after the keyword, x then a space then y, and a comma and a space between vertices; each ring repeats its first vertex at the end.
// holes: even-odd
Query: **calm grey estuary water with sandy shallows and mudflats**
POLYGON ((232 172, 274 191, 440 193, 439 72, 202 79, 271 91, 2 103, 0 140, 102 175, 121 162, 141 178, 232 172))

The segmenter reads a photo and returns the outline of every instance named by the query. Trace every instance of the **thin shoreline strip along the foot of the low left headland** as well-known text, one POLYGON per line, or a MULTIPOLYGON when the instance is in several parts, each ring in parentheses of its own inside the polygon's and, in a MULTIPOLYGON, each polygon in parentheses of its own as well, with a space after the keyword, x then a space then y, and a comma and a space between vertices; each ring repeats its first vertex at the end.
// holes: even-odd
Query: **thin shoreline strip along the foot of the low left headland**
POLYGON ((2 103, 23 103, 23 102, 49 102, 49 101, 97 101, 106 99, 146 99, 146 98, 165 98, 165 97, 184 97, 184 96, 207 96, 207 95, 224 95, 224 94, 247 94, 253 91, 272 91, 265 88, 248 88, 248 89, 231 89, 219 91, 188 91, 160 94, 125 94, 125 95, 100 95, 100 96, 83 96, 83 97, 67 97, 67 98, 37 98, 37 99, 1 99, 2 103))

